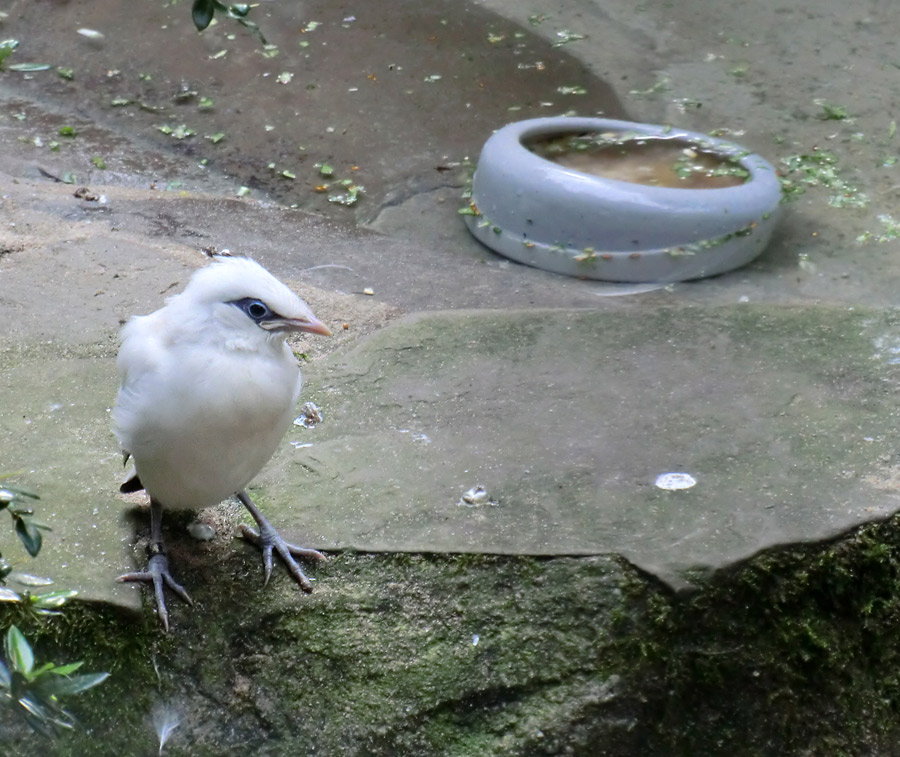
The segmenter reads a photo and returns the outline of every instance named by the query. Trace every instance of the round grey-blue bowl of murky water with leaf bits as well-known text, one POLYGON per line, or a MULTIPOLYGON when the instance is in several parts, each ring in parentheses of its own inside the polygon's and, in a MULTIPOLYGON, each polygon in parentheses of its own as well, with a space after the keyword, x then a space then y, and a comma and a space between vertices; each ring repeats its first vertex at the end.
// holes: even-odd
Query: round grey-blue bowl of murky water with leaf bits
POLYGON ((753 260, 772 235, 780 200, 774 167, 732 142, 558 117, 509 124, 488 139, 462 212, 476 239, 520 263, 665 283, 753 260))

